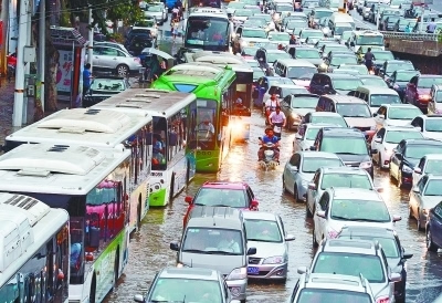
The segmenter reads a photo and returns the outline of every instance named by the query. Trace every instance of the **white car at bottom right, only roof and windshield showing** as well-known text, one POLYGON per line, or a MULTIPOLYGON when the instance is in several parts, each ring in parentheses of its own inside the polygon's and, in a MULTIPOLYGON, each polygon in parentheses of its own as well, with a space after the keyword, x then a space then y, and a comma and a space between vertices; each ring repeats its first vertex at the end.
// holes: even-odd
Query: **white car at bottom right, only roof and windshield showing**
POLYGON ((371 286, 364 275, 303 273, 293 290, 290 303, 303 302, 375 303, 371 286))

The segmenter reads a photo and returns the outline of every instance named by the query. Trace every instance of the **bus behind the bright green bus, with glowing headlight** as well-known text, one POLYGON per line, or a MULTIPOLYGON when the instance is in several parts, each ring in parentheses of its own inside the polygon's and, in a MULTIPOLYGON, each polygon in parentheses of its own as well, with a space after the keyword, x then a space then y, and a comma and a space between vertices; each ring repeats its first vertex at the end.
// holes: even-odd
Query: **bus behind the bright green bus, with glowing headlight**
POLYGON ((250 138, 250 121, 252 115, 253 70, 242 58, 228 52, 199 51, 185 54, 187 62, 211 63, 218 66, 230 66, 236 74, 235 97, 229 108, 230 127, 235 140, 250 138))

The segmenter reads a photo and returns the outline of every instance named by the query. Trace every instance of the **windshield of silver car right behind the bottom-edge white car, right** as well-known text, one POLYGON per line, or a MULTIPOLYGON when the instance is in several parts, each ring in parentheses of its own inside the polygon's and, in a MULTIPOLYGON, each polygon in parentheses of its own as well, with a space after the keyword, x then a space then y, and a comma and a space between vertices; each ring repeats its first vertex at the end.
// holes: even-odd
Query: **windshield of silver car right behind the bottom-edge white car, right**
MULTIPOLYGON (((382 283, 386 281, 381 260, 378 255, 346 253, 346 252, 320 252, 312 272, 348 274, 360 276, 362 274, 370 283, 382 283)), ((341 302, 341 300, 338 300, 341 302)), ((327 302, 330 302, 327 300, 327 302)))

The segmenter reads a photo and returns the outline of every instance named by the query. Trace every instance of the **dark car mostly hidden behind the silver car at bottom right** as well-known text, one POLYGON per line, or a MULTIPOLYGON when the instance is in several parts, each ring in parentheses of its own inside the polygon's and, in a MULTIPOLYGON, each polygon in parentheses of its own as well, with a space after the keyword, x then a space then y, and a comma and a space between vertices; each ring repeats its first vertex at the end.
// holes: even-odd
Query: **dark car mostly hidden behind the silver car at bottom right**
POLYGON ((392 272, 401 275, 401 281, 394 283, 396 302, 406 302, 407 285, 407 260, 413 257, 407 253, 402 247, 397 232, 389 228, 378 227, 344 227, 338 233, 337 239, 354 239, 377 241, 382 247, 387 257, 387 262, 392 272))

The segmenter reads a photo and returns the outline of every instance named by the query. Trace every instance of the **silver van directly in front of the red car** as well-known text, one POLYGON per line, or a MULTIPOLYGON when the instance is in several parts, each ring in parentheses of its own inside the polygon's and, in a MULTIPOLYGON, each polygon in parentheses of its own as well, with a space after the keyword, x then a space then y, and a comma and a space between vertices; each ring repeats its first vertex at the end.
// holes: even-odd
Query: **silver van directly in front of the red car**
POLYGON ((218 270, 234 300, 245 301, 248 288, 248 249, 244 218, 230 207, 194 207, 189 213, 180 242, 171 242, 177 251, 177 267, 218 270))

